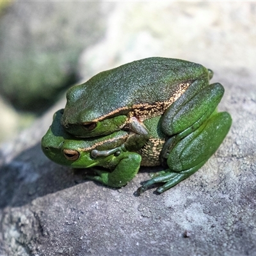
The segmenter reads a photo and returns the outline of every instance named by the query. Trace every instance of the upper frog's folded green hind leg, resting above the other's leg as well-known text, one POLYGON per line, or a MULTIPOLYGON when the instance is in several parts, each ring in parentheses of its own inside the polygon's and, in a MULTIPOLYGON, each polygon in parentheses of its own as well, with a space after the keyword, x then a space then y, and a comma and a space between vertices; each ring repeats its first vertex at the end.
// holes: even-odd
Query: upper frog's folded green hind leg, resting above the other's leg
POLYGON ((220 83, 209 84, 196 94, 191 90, 186 91, 166 109, 162 121, 164 133, 172 136, 185 131, 191 125, 193 129, 198 128, 216 109, 223 93, 224 88, 220 83))

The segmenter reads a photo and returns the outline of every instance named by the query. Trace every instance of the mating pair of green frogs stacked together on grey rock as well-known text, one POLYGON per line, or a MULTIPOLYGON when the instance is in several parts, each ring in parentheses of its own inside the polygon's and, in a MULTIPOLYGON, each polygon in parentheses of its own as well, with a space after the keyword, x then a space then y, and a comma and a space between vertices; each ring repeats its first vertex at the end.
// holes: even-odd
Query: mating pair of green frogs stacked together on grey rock
POLYGON ((216 110, 224 88, 209 84, 211 77, 202 65, 166 58, 102 72, 68 91, 42 148, 56 163, 111 169, 88 178, 113 187, 124 186, 140 165, 161 163, 166 169, 138 192, 163 183, 162 193, 202 167, 230 129, 231 116, 216 110))

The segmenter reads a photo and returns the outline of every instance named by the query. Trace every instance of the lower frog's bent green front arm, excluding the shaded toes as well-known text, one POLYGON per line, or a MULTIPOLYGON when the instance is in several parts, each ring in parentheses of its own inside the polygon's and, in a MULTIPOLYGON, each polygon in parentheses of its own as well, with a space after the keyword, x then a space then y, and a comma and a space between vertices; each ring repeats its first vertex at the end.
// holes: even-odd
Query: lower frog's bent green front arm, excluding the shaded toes
POLYGON ((139 154, 127 152, 113 172, 104 174, 103 183, 114 188, 125 186, 138 173, 140 163, 141 156, 139 154))

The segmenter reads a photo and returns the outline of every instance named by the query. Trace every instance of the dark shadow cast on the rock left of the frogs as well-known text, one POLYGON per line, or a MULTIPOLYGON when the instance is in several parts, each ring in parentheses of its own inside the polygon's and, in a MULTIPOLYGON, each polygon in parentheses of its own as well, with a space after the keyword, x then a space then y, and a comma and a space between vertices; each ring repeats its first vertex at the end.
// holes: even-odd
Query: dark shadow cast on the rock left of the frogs
POLYGON ((83 170, 53 163, 44 156, 40 143, 37 143, 9 164, 1 166, 0 208, 28 204, 40 196, 86 182, 83 173, 83 170))

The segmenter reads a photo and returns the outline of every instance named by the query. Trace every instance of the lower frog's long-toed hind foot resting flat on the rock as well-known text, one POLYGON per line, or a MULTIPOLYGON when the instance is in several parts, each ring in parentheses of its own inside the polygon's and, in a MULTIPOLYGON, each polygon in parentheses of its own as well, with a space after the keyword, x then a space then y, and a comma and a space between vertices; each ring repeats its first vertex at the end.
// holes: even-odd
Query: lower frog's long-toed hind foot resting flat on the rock
MULTIPOLYGON (((201 165, 201 164, 200 164, 201 165)), ((150 186, 156 183, 164 183, 163 186, 157 188, 158 193, 163 193, 167 189, 172 188, 173 186, 177 185, 180 181, 187 179, 190 175, 195 173, 199 166, 195 166, 186 171, 182 172, 172 172, 170 169, 164 170, 162 172, 154 173, 156 175, 152 175, 152 179, 147 180, 140 188, 138 188, 137 192, 139 194, 146 191, 150 186)))

